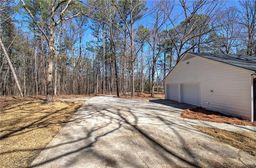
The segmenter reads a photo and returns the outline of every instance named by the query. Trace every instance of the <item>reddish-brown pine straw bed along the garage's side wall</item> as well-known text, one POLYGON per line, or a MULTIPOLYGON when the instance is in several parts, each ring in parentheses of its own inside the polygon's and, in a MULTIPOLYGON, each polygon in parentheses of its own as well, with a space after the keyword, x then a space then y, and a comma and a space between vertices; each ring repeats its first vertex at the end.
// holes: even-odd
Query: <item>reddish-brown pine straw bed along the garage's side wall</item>
POLYGON ((187 119, 201 120, 201 121, 211 121, 216 123, 256 126, 256 122, 250 122, 250 121, 235 118, 232 116, 227 116, 216 111, 203 109, 202 107, 196 107, 194 109, 186 109, 182 111, 181 117, 187 118, 187 119))

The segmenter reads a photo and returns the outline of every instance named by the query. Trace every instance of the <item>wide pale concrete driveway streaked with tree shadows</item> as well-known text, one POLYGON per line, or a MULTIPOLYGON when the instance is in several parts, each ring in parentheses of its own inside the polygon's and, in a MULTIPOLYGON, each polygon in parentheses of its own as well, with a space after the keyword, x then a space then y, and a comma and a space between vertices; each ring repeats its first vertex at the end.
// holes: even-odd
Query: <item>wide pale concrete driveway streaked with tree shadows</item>
POLYGON ((253 167, 256 158, 186 123, 174 101, 92 97, 32 163, 47 168, 253 167))

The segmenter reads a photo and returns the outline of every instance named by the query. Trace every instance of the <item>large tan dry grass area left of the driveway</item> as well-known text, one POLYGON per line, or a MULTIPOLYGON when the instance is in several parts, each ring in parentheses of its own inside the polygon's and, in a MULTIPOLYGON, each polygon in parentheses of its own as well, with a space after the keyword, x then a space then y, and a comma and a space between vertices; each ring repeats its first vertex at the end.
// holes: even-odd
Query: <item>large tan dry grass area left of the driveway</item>
POLYGON ((0 97, 1 167, 28 167, 84 102, 0 97))

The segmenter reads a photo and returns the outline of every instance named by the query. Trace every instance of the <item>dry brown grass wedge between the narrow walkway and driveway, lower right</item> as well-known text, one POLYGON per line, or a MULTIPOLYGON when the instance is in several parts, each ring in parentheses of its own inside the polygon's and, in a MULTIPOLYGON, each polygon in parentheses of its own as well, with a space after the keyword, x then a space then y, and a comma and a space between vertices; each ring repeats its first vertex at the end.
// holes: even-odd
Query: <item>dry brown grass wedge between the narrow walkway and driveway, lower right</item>
POLYGON ((218 128, 208 128, 193 125, 194 128, 213 136, 217 141, 229 144, 256 156, 256 134, 240 131, 227 131, 218 128))

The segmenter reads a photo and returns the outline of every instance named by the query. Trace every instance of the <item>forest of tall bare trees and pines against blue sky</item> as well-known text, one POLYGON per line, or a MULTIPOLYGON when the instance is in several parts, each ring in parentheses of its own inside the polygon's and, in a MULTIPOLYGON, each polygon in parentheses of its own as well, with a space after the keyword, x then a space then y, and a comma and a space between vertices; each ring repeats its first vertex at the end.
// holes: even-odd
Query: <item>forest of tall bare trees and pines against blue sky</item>
POLYGON ((186 52, 256 56, 256 0, 0 0, 0 96, 164 91, 186 52))

